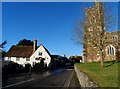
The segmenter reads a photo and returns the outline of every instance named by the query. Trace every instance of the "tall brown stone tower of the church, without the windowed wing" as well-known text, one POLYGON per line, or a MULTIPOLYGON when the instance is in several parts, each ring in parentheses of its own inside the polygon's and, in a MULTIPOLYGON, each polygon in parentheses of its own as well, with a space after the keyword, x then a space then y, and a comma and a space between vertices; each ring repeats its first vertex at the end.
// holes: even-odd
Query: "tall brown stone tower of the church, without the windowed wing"
POLYGON ((99 61, 100 53, 92 45, 92 40, 97 40, 95 34, 104 31, 103 3, 96 2, 94 7, 86 8, 86 21, 84 26, 83 61, 99 61), (97 29, 96 29, 97 28, 97 29))

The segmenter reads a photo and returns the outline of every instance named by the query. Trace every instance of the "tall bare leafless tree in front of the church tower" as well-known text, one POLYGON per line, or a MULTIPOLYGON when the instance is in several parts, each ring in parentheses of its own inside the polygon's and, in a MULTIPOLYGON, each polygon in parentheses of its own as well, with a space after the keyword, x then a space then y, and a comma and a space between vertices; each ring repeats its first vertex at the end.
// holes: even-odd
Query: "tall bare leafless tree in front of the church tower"
MULTIPOLYGON (((110 31, 112 28, 114 28, 114 25, 116 24, 116 17, 114 17, 111 13, 111 8, 106 4, 102 2, 97 2, 95 5, 101 5, 101 11, 98 11, 99 20, 95 21, 97 16, 94 17, 91 16, 90 20, 92 23, 87 23, 86 20, 88 18, 80 18, 80 20, 76 24, 76 28, 74 30, 74 37, 73 40, 77 44, 83 44, 83 46, 87 47, 86 43, 90 43, 92 47, 97 47, 100 50, 100 60, 101 60, 101 67, 103 67, 103 61, 104 61, 104 47, 106 45, 106 31, 110 31), (90 34, 88 31, 88 28, 90 30, 93 30, 93 33, 90 34), (86 32, 86 33, 84 33, 86 32)), ((87 13, 87 9, 86 9, 87 13)), ((83 15, 83 13, 81 14, 83 15)), ((87 50, 87 52, 89 52, 87 50)), ((94 54, 94 53, 89 53, 89 54, 94 54)))

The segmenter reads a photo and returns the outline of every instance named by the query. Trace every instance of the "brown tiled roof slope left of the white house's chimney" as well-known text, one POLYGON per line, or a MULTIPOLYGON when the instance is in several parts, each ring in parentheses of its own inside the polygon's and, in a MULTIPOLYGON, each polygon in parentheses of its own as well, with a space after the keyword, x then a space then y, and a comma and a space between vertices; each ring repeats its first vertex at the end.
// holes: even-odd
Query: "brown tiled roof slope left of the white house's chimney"
POLYGON ((13 45, 5 57, 27 57, 29 58, 33 53, 33 46, 15 46, 13 45))

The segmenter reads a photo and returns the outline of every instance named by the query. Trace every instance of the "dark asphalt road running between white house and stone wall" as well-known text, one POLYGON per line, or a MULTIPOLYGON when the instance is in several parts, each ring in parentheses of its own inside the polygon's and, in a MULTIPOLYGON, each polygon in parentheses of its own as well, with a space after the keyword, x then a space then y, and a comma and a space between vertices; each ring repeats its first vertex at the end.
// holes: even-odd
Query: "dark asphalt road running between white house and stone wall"
POLYGON ((72 68, 46 71, 44 73, 32 73, 31 75, 11 77, 3 82, 3 89, 7 88, 80 88, 76 73, 72 68))

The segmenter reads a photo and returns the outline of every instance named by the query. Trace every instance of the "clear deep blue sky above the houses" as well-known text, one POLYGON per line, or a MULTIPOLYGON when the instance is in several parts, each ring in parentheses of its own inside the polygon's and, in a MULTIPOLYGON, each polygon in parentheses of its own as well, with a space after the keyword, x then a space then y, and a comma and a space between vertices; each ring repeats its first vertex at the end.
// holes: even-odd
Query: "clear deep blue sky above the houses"
MULTIPOLYGON (((118 15, 117 3, 111 3, 113 15, 118 15)), ((76 21, 90 7, 85 2, 4 2, 2 3, 2 41, 4 50, 21 39, 43 44, 51 54, 82 55, 82 45, 76 45, 73 33, 76 21)), ((85 14, 85 13, 84 13, 85 14)), ((117 27, 115 27, 117 28, 117 27)))

